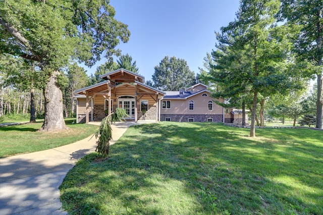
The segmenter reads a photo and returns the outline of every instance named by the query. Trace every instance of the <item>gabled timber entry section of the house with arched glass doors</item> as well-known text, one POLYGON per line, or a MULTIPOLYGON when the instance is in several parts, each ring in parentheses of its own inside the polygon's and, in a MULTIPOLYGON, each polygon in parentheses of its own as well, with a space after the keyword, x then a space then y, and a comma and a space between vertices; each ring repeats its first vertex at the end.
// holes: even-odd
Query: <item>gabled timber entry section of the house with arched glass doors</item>
POLYGON ((105 81, 75 91, 77 98, 77 122, 103 119, 117 108, 126 110, 127 120, 158 121, 160 99, 163 91, 144 84, 144 77, 119 69, 100 76, 105 81))

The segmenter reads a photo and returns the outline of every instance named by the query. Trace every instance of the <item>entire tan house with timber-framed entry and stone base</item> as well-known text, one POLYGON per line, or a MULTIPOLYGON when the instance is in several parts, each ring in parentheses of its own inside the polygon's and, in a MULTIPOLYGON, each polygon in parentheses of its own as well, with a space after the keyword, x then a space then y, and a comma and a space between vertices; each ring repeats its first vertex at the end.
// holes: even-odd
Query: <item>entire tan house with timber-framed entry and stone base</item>
POLYGON ((143 76, 118 69, 100 76, 104 81, 76 90, 77 123, 97 121, 117 108, 126 110, 127 120, 233 123, 233 109, 224 109, 210 97, 204 84, 179 91, 161 91, 145 84, 143 76), (145 115, 143 115, 145 112, 145 115), (144 118, 143 118, 144 117, 144 118))

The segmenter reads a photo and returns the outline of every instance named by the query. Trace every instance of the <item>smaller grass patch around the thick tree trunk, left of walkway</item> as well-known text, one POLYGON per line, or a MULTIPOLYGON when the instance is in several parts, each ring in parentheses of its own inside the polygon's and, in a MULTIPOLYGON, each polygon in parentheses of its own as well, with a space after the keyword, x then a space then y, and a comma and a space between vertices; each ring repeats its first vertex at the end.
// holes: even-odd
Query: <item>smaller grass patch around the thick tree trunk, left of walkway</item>
POLYGON ((71 122, 73 119, 66 120, 70 130, 60 132, 38 132, 42 122, 0 127, 0 158, 74 143, 94 134, 98 128, 71 122))

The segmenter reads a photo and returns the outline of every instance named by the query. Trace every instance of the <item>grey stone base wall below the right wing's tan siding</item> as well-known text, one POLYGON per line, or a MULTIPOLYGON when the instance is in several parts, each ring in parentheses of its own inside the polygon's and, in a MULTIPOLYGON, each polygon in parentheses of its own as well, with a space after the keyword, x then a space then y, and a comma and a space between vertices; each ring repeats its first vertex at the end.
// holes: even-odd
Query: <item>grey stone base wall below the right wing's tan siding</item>
POLYGON ((194 118, 194 122, 207 122, 208 118, 212 118, 213 122, 223 122, 223 115, 221 114, 161 114, 160 121, 165 121, 165 118, 171 118, 173 122, 188 122, 188 118, 194 118))

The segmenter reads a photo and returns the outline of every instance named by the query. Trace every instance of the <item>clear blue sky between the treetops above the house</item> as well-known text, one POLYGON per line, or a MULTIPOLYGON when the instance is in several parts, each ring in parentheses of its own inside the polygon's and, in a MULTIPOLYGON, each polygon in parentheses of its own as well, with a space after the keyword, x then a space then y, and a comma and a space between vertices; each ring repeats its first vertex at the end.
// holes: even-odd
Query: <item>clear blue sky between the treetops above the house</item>
MULTIPOLYGON (((214 31, 234 21, 239 0, 111 0, 115 18, 128 25, 127 43, 117 47, 136 61, 139 74, 150 80, 154 66, 165 57, 184 59, 198 73, 206 52, 215 48, 214 31)), ((114 57, 115 61, 117 57, 114 57)), ((96 67, 85 67, 94 74, 96 67)))

